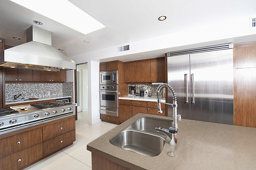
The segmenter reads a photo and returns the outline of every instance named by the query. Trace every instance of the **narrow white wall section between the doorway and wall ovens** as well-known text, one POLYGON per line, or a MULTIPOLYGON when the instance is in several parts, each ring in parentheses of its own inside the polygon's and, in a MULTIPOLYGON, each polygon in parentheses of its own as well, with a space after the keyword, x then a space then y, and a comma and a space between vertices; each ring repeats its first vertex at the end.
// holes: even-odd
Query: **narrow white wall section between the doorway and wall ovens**
POLYGON ((99 62, 88 61, 88 123, 94 125, 99 119, 99 62))

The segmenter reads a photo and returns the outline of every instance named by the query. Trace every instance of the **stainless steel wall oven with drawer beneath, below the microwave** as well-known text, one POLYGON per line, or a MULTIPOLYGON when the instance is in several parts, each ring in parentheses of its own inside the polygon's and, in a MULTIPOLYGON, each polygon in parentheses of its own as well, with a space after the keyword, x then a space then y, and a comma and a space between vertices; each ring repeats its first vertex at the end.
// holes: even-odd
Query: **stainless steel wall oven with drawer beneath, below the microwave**
POLYGON ((118 85, 100 85, 100 113, 118 116, 118 85))

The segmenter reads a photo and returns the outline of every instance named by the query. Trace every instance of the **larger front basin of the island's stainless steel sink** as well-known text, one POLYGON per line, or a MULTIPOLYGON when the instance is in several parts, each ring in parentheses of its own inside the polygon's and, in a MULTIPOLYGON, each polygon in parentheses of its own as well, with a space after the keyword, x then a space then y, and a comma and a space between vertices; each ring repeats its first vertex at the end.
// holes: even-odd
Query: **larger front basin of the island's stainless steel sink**
POLYGON ((110 143, 125 150, 152 157, 162 152, 165 141, 160 136, 135 130, 124 130, 111 139, 110 143))

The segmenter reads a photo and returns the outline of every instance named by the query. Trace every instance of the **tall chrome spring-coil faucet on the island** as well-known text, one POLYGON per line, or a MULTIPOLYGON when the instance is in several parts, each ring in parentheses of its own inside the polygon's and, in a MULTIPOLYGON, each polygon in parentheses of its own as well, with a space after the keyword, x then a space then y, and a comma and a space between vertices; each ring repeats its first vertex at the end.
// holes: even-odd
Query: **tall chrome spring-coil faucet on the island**
POLYGON ((156 127, 155 130, 157 132, 162 132, 162 133, 166 134, 166 136, 168 136, 170 138, 170 144, 175 146, 177 144, 177 133, 178 133, 177 120, 181 121, 181 116, 180 116, 180 114, 177 115, 177 97, 176 97, 176 94, 175 94, 172 86, 167 84, 167 83, 162 83, 157 88, 157 107, 158 107, 158 112, 157 113, 163 113, 163 111, 161 110, 161 103, 164 103, 166 105, 172 105, 172 113, 173 113, 172 127, 169 127, 169 129, 164 129, 162 127, 156 127), (160 89, 163 88, 163 87, 169 88, 169 90, 172 92, 172 96, 173 96, 173 103, 172 104, 161 102, 159 100, 159 92, 160 92, 160 89))

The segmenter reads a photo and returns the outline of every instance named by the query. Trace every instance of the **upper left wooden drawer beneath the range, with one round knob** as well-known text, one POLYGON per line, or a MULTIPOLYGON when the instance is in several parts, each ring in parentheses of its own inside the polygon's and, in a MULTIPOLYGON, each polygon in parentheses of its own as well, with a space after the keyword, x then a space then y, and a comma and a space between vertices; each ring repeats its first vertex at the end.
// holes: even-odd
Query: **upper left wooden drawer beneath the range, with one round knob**
POLYGON ((43 142, 42 128, 0 139, 0 158, 43 142))

